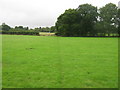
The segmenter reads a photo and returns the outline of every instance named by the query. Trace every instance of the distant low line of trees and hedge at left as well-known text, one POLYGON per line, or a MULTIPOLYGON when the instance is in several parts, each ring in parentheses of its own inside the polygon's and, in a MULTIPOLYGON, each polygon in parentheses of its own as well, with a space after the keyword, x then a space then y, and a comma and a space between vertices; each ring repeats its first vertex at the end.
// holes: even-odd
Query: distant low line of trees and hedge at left
POLYGON ((0 33, 2 34, 17 34, 17 35, 40 35, 39 32, 55 32, 55 26, 51 27, 39 27, 34 29, 29 29, 29 27, 15 26, 14 28, 3 23, 0 26, 0 33))

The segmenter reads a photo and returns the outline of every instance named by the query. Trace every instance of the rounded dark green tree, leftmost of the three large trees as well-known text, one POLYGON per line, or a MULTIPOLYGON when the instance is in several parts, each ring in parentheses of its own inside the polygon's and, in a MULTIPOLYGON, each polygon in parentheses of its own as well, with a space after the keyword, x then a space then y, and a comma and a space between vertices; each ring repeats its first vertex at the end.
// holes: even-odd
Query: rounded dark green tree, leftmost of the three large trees
POLYGON ((75 9, 68 9, 61 14, 56 22, 57 35, 60 36, 77 36, 74 25, 77 23, 78 13, 75 9))

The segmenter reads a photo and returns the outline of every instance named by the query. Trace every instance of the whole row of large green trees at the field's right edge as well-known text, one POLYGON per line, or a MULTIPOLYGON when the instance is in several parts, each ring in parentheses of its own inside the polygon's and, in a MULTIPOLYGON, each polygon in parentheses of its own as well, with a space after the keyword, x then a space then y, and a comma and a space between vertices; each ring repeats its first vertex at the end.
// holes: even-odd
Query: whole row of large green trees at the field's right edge
POLYGON ((59 36, 120 36, 120 10, 113 3, 100 9, 79 5, 58 17, 56 32, 59 36))

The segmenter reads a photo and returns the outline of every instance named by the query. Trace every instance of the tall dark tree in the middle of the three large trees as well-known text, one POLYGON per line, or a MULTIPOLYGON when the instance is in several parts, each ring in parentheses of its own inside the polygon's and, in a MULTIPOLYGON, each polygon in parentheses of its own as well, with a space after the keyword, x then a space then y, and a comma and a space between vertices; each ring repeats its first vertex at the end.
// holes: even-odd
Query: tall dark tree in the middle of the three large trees
POLYGON ((83 4, 77 8, 79 16, 81 16, 81 36, 95 36, 96 31, 94 25, 97 22, 97 7, 91 4, 83 4))

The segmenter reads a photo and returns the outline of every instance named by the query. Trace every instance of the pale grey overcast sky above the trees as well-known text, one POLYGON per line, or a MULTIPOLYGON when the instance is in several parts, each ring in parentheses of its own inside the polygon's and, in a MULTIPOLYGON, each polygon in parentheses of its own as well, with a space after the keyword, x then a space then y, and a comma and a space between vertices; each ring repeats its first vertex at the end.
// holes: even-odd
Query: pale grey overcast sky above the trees
POLYGON ((52 26, 66 9, 85 3, 102 7, 110 2, 118 5, 119 0, 0 0, 0 24, 52 26))

